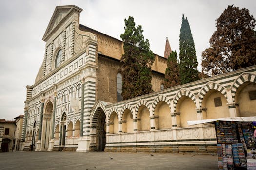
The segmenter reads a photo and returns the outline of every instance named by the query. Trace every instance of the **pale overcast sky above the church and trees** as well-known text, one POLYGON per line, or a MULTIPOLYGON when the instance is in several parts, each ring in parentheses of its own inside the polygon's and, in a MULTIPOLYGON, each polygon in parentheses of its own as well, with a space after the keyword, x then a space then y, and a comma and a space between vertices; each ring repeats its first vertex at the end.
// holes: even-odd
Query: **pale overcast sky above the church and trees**
POLYGON ((0 1, 0 119, 24 114, 26 85, 33 85, 44 57, 42 36, 56 6, 83 9, 80 23, 120 39, 124 18, 142 25, 151 50, 163 56, 168 37, 179 54, 182 13, 195 42, 198 69, 209 47, 216 19, 228 5, 247 8, 256 17, 256 0, 1 0, 0 1))

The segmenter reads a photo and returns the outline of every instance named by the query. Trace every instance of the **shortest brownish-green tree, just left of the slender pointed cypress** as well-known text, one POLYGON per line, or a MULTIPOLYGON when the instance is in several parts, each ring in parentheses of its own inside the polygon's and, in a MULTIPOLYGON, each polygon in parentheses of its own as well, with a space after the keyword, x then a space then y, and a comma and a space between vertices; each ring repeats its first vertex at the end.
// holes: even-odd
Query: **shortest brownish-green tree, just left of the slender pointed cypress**
POLYGON ((165 70, 164 88, 170 88, 180 85, 179 66, 177 61, 177 52, 172 51, 167 59, 167 68, 165 70))

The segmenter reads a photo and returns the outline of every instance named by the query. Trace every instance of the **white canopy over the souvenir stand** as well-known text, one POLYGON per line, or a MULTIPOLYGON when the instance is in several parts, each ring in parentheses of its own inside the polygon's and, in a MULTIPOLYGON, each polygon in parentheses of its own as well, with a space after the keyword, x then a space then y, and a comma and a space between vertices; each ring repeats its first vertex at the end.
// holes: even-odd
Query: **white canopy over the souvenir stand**
POLYGON ((241 121, 241 122, 250 122, 250 121, 256 121, 256 116, 250 116, 250 117, 227 117, 227 118, 217 118, 217 119, 204 119, 204 120, 195 120, 195 121, 188 121, 188 125, 196 125, 196 124, 204 124, 204 123, 210 123, 215 121, 241 121))

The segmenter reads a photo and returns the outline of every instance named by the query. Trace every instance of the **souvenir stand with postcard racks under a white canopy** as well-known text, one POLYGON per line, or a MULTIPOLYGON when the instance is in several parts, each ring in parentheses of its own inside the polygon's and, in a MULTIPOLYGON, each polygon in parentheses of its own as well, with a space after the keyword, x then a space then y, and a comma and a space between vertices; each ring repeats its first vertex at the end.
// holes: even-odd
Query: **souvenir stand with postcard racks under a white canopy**
POLYGON ((219 170, 256 170, 256 117, 188 121, 214 123, 219 170))

